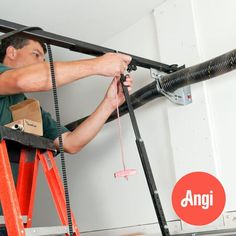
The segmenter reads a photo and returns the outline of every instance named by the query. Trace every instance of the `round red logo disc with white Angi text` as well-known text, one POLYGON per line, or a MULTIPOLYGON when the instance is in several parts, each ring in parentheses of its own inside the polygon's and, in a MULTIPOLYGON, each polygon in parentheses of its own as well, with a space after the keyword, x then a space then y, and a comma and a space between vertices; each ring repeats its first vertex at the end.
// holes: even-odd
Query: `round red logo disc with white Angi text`
POLYGON ((225 191, 220 181, 205 172, 183 176, 172 192, 176 214, 188 224, 206 225, 217 219, 225 206, 225 191))

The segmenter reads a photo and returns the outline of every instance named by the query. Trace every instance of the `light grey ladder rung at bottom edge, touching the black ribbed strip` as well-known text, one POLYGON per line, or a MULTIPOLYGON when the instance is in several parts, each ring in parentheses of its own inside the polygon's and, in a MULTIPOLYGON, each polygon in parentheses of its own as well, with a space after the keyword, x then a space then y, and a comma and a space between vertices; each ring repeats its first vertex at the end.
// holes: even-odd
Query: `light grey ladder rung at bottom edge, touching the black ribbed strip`
POLYGON ((69 234, 69 227, 68 226, 25 228, 25 235, 26 236, 65 235, 65 233, 69 234))

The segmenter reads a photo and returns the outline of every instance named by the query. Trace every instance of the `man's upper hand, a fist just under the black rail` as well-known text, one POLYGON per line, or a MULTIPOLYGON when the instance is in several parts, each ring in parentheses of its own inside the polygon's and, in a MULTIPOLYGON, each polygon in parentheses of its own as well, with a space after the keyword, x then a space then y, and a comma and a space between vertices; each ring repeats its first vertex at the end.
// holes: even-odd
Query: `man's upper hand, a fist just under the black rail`
POLYGON ((95 58, 95 68, 99 75, 115 77, 124 74, 131 57, 121 53, 106 53, 95 58))

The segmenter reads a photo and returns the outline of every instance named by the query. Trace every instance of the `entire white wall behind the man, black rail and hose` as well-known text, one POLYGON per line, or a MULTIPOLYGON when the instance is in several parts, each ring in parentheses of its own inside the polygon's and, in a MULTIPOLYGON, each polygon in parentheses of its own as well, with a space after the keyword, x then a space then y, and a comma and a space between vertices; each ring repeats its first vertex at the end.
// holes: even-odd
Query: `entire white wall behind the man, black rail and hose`
MULTIPOLYGON (((235 7, 233 0, 169 0, 104 45, 168 64, 190 66, 234 49, 235 7)), ((171 207, 172 188, 191 171, 216 175, 226 190, 225 211, 236 210, 232 174, 236 166, 234 76, 235 72, 231 72, 193 85, 191 105, 181 107, 161 98, 136 111, 168 221, 178 219, 171 207)), ((146 70, 140 69, 134 77, 134 90, 152 81, 146 70)), ((63 122, 89 114, 102 99, 108 84, 107 79, 90 78, 60 89, 63 122), (73 109, 69 106, 71 101, 75 101, 73 109)), ((52 110, 49 98, 41 96, 41 101, 52 110)), ((138 171, 128 182, 113 178, 113 173, 121 169, 116 122, 105 125, 80 154, 68 157, 71 202, 81 231, 156 222, 128 116, 122 117, 122 127, 127 166, 138 171)), ((45 195, 40 178, 35 224, 53 225, 56 223, 53 210, 48 211, 53 208, 50 202, 45 204, 49 195, 45 195), (47 215, 42 217, 45 211, 47 215)), ((216 226, 222 224, 221 219, 214 222, 216 226)))

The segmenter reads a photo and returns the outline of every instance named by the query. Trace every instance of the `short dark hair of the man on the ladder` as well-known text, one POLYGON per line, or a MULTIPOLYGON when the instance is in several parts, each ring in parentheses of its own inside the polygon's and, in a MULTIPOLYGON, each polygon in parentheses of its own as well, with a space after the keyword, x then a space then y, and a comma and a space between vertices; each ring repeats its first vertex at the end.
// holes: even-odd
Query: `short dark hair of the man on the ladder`
MULTIPOLYGON (((47 48, 43 42, 41 42, 40 40, 34 40, 34 41, 38 42, 42 46, 44 53, 47 52, 47 48)), ((16 49, 21 49, 24 46, 26 46, 28 42, 29 39, 17 35, 13 35, 9 38, 2 40, 2 44, 0 45, 0 63, 3 62, 6 56, 6 50, 9 46, 12 46, 16 49)))

